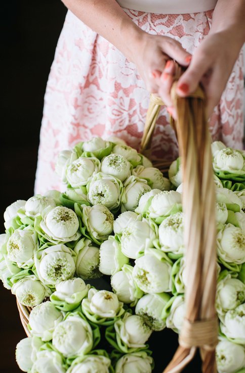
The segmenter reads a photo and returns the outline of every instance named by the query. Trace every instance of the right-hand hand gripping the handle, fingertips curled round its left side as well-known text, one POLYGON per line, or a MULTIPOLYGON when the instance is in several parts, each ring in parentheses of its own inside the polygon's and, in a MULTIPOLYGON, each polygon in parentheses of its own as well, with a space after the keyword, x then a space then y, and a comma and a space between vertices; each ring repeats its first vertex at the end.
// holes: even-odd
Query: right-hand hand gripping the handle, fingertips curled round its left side
MULTIPOLYGON (((207 117, 213 113, 222 92, 231 74, 234 63, 238 57, 240 45, 236 44, 227 31, 209 34, 195 50, 190 65, 180 77, 177 85, 177 94, 186 97, 195 91, 201 83, 207 97, 207 117)), ((174 75, 173 65, 169 64, 162 72, 162 76, 174 75), (169 68, 168 68, 169 67, 169 68)), ((176 113, 170 99, 171 86, 161 80, 158 94, 167 104, 168 111, 176 119, 176 113)))

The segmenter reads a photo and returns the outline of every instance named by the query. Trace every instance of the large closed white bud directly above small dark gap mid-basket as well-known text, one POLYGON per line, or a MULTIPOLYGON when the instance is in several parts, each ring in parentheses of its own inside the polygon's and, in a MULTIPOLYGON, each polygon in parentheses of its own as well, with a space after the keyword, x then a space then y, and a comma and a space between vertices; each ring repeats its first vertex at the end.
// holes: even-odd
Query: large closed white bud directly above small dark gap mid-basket
POLYGON ((128 258, 136 259, 157 237, 157 226, 149 219, 132 221, 121 235, 121 251, 128 258))

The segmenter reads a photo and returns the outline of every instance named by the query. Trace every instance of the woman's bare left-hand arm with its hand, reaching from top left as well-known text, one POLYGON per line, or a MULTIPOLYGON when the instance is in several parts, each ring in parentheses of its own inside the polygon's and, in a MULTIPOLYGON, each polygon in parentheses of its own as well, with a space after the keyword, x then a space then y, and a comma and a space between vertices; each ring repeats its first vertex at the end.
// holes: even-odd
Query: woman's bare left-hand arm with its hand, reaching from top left
POLYGON ((161 72, 170 58, 188 66, 189 54, 173 38, 142 31, 115 0, 62 0, 92 30, 111 42, 129 61, 151 92, 158 92, 161 72))

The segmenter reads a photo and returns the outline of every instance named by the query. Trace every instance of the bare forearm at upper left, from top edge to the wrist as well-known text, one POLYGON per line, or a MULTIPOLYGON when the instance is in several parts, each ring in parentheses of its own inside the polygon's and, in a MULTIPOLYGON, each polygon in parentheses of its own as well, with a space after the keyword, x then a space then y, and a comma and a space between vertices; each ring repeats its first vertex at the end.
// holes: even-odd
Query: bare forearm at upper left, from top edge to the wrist
MULTIPOLYGON (((130 61, 134 40, 142 31, 115 0, 62 0, 92 30, 116 46, 130 61)), ((137 43, 136 43, 137 44, 137 43)))

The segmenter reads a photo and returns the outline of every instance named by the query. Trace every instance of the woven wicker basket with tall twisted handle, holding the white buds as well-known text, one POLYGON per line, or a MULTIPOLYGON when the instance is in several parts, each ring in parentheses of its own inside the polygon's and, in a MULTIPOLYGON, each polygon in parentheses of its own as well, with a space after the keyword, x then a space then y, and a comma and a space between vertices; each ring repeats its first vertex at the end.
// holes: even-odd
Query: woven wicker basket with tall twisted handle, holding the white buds
MULTIPOLYGON (((176 80, 182 71, 177 66, 176 80)), ((215 373, 215 347, 218 321, 216 294, 216 222, 215 191, 212 170, 211 139, 205 117, 205 97, 200 87, 191 97, 179 98, 173 84, 171 95, 178 120, 172 120, 178 138, 183 166, 184 242, 187 284, 186 317, 179 337, 180 346, 164 373, 179 373, 200 349, 202 372, 215 373)), ((141 143, 141 152, 150 158, 151 138, 162 101, 150 96, 150 104, 141 143)), ((167 172, 170 162, 155 160, 154 166, 167 172)), ((20 319, 27 334, 30 307, 17 300, 20 319)))

